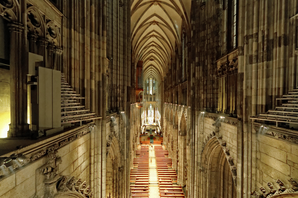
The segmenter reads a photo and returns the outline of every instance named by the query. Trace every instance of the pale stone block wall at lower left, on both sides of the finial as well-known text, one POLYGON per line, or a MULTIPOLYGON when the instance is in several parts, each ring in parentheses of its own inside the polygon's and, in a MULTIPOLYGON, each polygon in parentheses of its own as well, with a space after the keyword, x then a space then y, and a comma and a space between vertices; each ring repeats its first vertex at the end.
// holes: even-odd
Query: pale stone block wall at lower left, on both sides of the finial
MULTIPOLYGON (((57 150, 61 157, 58 173, 81 178, 90 185, 90 133, 57 150)), ((32 198, 44 195, 45 176, 39 168, 46 163, 46 157, 28 163, 14 174, 0 180, 0 197, 32 198)))

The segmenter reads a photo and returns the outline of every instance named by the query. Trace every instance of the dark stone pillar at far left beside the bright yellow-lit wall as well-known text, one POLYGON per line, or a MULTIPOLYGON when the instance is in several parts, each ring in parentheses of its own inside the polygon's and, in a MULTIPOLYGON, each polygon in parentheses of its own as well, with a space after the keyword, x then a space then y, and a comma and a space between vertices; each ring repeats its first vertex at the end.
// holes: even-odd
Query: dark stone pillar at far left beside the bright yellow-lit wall
POLYGON ((22 32, 24 26, 12 22, 10 30, 10 124, 7 137, 28 135, 27 123, 27 76, 22 50, 22 32))

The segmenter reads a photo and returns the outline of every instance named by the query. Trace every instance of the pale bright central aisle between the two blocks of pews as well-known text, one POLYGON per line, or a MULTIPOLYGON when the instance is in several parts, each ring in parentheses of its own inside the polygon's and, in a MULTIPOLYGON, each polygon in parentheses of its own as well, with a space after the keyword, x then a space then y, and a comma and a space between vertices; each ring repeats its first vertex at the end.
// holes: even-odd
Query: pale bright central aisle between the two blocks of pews
POLYGON ((155 163, 154 145, 153 149, 152 147, 149 149, 149 198, 159 198, 159 186, 155 163))

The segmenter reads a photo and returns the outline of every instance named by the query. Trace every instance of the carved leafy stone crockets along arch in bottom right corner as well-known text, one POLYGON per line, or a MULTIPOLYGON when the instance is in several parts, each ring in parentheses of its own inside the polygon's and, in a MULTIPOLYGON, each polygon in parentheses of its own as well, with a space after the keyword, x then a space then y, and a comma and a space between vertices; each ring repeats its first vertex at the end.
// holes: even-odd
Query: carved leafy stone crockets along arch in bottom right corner
POLYGON ((254 191, 252 195, 256 198, 267 198, 271 197, 273 195, 277 194, 283 194, 283 193, 297 193, 298 192, 298 183, 293 179, 289 178, 288 181, 290 182, 291 186, 289 188, 286 188, 283 182, 280 179, 275 180, 275 182, 280 186, 279 189, 274 189, 274 186, 270 183, 267 182, 267 186, 269 187, 270 191, 266 191, 266 189, 261 186, 259 189, 261 191, 260 195, 258 192, 254 191))

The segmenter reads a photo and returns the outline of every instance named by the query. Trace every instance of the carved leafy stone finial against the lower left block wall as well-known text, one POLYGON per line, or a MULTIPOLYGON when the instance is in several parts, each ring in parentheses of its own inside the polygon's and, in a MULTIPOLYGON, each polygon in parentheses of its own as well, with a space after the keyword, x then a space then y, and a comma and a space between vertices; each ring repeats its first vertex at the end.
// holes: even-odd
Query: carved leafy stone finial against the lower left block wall
POLYGON ((39 172, 46 176, 46 180, 54 179, 58 175, 58 165, 61 163, 61 157, 57 157, 57 152, 49 152, 46 164, 39 168, 39 172))

